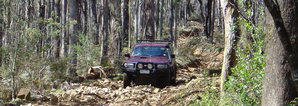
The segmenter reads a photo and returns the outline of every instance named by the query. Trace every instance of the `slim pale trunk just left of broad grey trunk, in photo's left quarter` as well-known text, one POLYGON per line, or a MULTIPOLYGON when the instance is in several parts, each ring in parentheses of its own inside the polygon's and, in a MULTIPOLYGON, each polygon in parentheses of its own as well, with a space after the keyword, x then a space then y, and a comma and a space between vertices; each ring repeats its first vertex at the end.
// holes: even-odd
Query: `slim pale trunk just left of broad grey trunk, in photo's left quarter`
POLYGON ((60 18, 60 26, 62 28, 61 30, 61 51, 60 51, 60 57, 63 58, 65 54, 65 44, 66 44, 66 7, 67 7, 67 0, 61 0, 61 18, 60 18))

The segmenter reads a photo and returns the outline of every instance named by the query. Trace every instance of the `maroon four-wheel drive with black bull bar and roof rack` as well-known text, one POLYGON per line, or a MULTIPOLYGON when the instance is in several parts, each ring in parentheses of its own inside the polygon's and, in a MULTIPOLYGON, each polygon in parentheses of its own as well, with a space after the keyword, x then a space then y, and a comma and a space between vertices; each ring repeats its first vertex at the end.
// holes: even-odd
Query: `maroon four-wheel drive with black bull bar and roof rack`
POLYGON ((159 85, 160 88, 176 83, 176 59, 170 41, 138 40, 128 59, 123 63, 123 88, 136 85, 159 85))

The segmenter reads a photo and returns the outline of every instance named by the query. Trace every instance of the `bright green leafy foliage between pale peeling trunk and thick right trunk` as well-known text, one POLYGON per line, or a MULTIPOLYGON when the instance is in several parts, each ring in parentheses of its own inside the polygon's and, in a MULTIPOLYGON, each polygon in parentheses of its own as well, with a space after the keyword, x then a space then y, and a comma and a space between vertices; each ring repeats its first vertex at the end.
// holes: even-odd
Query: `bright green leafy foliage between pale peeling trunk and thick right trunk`
MULTIPOLYGON (((248 7, 250 6, 248 4, 248 7)), ((246 10, 244 7, 242 9, 246 15, 251 16, 252 10, 246 10)), ((235 47, 238 63, 231 69, 232 74, 228 76, 229 80, 225 83, 225 95, 221 98, 222 105, 260 105, 265 69, 261 49, 264 47, 263 24, 258 22, 260 24, 255 27, 250 19, 238 18, 238 20, 247 36, 255 39, 257 43, 247 37, 240 38, 239 42, 243 42, 243 45, 235 47)), ((262 17, 259 20, 262 20, 262 17)))

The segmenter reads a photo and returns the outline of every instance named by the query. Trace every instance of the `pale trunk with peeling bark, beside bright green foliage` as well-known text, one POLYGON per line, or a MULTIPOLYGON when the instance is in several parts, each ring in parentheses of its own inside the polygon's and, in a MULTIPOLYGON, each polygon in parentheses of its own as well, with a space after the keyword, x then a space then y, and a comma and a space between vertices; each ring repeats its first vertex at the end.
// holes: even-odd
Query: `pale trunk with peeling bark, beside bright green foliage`
MULTIPOLYGON (((236 1, 235 1, 236 2, 236 1)), ((235 67, 236 61, 236 51, 234 45, 237 45, 239 36, 239 31, 237 28, 232 29, 233 23, 237 22, 237 17, 239 16, 238 11, 235 8, 234 1, 221 0, 223 4, 223 14, 224 14, 224 24, 225 24, 225 50, 224 50, 224 61, 223 68, 221 71, 221 95, 224 96, 225 82, 228 80, 228 75, 231 74, 231 67, 235 67)))

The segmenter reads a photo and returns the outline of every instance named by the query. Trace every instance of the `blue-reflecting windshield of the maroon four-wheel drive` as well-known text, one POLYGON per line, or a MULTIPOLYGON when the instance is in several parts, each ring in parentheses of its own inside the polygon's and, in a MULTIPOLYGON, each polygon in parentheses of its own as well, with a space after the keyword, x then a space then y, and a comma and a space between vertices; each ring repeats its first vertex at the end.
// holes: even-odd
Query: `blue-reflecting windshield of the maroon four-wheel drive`
POLYGON ((159 46, 136 46, 131 56, 167 56, 167 50, 159 46))

